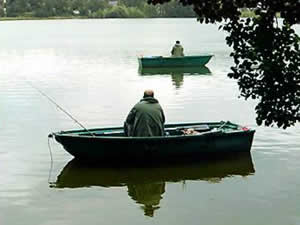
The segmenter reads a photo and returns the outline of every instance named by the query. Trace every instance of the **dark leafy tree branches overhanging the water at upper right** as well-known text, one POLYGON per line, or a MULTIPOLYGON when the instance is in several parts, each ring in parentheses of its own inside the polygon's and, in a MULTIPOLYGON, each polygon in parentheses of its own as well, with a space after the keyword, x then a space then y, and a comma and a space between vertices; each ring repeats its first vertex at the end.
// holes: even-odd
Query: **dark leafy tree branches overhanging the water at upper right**
MULTIPOLYGON (((148 0, 163 4, 170 0, 148 0)), ((191 5, 201 23, 222 22, 233 47, 230 78, 240 96, 258 100, 258 125, 287 128, 300 121, 300 49, 293 25, 300 23, 298 0, 178 0, 191 5), (241 18, 249 8, 253 18, 241 18), (283 24, 277 21, 278 13, 283 24)))

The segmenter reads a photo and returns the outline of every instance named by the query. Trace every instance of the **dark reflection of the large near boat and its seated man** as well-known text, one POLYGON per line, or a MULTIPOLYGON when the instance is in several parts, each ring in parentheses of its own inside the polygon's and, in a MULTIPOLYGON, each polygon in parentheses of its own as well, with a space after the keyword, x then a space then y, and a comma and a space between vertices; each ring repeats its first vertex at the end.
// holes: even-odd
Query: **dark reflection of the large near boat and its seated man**
POLYGON ((153 217, 160 208, 166 182, 202 180, 219 183, 223 178, 254 174, 250 153, 239 153, 226 158, 212 158, 197 162, 135 166, 99 166, 71 160, 58 175, 53 188, 83 188, 92 186, 127 187, 128 195, 153 217))

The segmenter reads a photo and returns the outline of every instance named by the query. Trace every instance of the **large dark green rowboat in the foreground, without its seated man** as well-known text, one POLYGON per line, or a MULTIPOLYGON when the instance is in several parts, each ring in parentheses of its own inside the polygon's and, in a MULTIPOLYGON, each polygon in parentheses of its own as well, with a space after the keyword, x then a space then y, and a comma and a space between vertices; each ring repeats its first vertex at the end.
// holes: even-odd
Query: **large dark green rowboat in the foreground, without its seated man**
POLYGON ((123 127, 61 131, 50 136, 77 159, 146 162, 250 152, 254 132, 221 121, 167 124, 165 135, 154 137, 127 137, 123 127))

